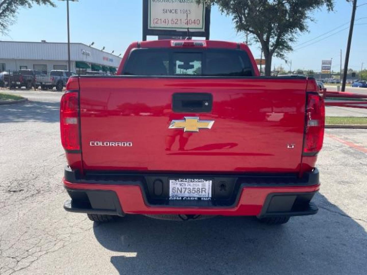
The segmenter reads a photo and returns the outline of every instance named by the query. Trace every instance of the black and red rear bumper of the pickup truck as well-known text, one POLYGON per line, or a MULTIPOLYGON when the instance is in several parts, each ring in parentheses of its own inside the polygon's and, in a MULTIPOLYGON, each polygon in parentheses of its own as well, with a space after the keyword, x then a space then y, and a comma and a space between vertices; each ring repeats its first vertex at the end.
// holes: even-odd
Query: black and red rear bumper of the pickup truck
POLYGON ((81 178, 77 171, 66 168, 63 183, 71 199, 64 208, 70 212, 117 216, 128 213, 270 217, 310 215, 318 210, 310 202, 320 186, 317 169, 302 179, 294 175, 211 175, 213 189, 217 181, 222 183, 225 179, 229 186, 233 184, 233 194, 226 200, 202 203, 152 198, 149 182, 157 177, 165 179, 169 175, 94 173, 81 178))

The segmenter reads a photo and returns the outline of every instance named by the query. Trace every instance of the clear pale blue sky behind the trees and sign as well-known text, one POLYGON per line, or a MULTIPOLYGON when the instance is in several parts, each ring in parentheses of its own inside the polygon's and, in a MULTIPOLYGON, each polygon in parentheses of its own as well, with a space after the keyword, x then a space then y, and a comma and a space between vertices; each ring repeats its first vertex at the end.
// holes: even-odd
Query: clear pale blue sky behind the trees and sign
MULTIPOLYGON (((56 0, 57 8, 35 5, 22 8, 17 22, 10 26, 4 41, 66 42, 66 1, 56 0)), ((358 0, 356 22, 350 51, 349 68, 367 68, 367 0, 358 0), (366 5, 363 5, 365 4, 366 5)), ((315 11, 314 22, 309 22, 309 32, 299 36, 293 45, 294 51, 287 55, 296 69, 320 71, 321 60, 333 58, 332 70, 339 71, 340 50, 344 66, 345 49, 352 4, 346 0, 335 0, 335 10, 326 8, 315 11)), ((243 42, 243 33, 237 33, 232 18, 222 15, 218 7, 212 8, 211 40, 243 42)), ((148 37, 154 40, 156 37, 148 37)), ((79 0, 70 2, 70 41, 89 45, 115 54, 124 53, 133 41, 142 40, 141 0, 79 0)), ((255 58, 260 58, 258 44, 250 45, 255 58)), ((0 49, 1 50, 1 49, 0 49)), ((272 66, 290 69, 290 62, 273 59, 272 66)))

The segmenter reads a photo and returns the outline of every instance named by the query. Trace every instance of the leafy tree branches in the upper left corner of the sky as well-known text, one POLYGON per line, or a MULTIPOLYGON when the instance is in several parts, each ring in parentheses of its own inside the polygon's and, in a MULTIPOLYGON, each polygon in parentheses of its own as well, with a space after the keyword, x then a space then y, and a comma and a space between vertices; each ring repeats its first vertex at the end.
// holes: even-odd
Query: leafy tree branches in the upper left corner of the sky
POLYGON ((34 4, 56 7, 52 0, 0 0, 0 33, 14 23, 19 8, 32 8, 34 4))

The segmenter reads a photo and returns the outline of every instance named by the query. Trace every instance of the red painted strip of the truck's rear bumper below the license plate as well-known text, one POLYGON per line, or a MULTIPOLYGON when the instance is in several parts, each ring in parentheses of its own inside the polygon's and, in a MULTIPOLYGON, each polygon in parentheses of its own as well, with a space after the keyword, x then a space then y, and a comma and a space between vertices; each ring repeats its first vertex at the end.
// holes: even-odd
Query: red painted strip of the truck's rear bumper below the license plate
POLYGON ((72 184, 63 180, 65 187, 81 190, 112 190, 119 198, 121 208, 128 214, 197 214, 223 216, 257 216, 260 214, 265 198, 271 193, 315 192, 319 185, 308 187, 246 187, 236 206, 231 208, 201 207, 160 207, 147 206, 139 186, 117 186, 103 184, 72 184))

